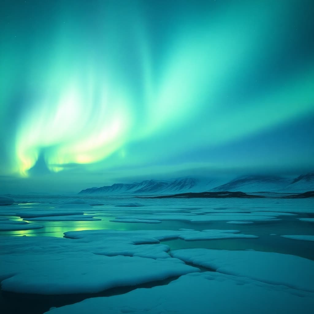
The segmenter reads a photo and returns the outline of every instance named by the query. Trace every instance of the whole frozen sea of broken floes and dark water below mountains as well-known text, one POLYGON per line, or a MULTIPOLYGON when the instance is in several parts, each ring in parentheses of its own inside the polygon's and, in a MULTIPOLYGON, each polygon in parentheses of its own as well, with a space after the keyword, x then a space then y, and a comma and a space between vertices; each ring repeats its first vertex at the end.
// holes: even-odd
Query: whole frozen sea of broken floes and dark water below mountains
POLYGON ((313 198, 11 197, 2 313, 313 311, 313 198))

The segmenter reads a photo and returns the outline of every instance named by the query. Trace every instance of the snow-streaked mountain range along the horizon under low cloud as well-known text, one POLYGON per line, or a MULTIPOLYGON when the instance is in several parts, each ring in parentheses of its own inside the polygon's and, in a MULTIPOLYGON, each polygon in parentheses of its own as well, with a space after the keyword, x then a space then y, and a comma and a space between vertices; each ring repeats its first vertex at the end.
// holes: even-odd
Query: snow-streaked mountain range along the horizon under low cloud
POLYGON ((175 194, 187 192, 290 192, 314 190, 314 172, 296 178, 279 176, 242 176, 224 182, 213 178, 178 178, 171 181, 145 180, 134 183, 115 183, 111 186, 92 187, 79 194, 175 194))

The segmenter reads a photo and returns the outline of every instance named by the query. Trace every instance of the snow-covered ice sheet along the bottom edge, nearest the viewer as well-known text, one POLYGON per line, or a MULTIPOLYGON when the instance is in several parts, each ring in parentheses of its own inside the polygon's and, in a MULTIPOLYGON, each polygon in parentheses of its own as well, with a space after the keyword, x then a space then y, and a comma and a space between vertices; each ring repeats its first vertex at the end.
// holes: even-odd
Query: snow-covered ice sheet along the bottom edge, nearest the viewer
POLYGON ((168 285, 122 295, 89 298, 47 314, 311 314, 313 295, 249 278, 204 272, 181 276, 168 285))

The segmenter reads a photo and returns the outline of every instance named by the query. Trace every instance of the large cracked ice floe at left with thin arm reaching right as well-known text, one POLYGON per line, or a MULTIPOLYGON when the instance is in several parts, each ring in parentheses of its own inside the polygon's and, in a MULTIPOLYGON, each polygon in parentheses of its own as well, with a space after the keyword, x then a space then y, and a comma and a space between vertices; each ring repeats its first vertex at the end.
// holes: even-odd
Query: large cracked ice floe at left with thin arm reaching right
POLYGON ((239 232, 83 230, 66 232, 68 238, 3 237, 2 289, 40 294, 90 293, 195 272, 197 268, 173 263, 177 260, 167 253, 170 247, 159 241, 246 237, 239 232))

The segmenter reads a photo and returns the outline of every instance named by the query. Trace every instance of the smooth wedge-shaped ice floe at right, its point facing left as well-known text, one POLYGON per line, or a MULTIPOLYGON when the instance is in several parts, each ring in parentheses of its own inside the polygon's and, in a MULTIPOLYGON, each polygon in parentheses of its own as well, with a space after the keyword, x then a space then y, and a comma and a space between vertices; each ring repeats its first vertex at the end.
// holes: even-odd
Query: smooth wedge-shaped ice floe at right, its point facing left
POLYGON ((314 292, 314 261, 273 252, 183 249, 172 257, 219 273, 314 292))

